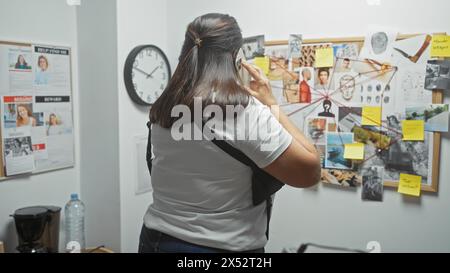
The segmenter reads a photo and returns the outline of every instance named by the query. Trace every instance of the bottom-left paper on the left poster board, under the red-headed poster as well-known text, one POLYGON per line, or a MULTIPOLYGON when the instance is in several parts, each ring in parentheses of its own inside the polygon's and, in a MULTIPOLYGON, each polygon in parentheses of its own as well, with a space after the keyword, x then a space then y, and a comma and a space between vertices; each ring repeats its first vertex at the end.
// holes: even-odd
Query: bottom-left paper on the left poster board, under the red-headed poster
POLYGON ((32 172, 35 169, 31 137, 3 139, 6 176, 32 172))

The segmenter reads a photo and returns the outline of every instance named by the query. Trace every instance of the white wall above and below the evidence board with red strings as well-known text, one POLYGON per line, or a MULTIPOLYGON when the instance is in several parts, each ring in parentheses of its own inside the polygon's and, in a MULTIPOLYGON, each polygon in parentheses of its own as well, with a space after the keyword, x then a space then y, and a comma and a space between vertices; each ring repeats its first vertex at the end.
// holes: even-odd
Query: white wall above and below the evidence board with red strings
MULTIPOLYGON (((381 0, 369 7, 365 0, 170 0, 168 50, 176 64, 187 24, 208 12, 229 13, 244 36, 266 39, 363 36, 368 24, 398 27, 401 33, 450 32, 446 0, 381 0)), ((448 95, 445 98, 449 102, 448 95)), ((360 189, 317 190, 285 187, 276 198, 267 251, 314 242, 365 249, 371 240, 383 251, 450 251, 449 135, 443 138, 439 194, 419 199, 385 189, 382 203, 362 202, 360 189)))

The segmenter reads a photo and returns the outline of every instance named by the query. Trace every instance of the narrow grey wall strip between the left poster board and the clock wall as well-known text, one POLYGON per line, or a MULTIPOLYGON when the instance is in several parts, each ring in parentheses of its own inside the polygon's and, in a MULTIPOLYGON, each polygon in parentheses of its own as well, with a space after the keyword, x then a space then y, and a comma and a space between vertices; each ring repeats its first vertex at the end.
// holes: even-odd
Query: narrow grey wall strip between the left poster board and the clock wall
POLYGON ((115 0, 82 1, 80 65, 81 193, 88 246, 120 250, 119 116, 115 0))

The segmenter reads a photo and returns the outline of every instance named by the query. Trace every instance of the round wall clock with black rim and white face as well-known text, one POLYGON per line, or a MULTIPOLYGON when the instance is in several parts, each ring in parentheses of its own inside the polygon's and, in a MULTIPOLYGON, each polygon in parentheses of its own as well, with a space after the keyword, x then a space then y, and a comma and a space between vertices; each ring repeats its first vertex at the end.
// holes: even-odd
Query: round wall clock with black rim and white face
POLYGON ((128 55, 124 80, 127 92, 134 102, 152 105, 167 87, 169 78, 169 62, 158 47, 138 46, 128 55))

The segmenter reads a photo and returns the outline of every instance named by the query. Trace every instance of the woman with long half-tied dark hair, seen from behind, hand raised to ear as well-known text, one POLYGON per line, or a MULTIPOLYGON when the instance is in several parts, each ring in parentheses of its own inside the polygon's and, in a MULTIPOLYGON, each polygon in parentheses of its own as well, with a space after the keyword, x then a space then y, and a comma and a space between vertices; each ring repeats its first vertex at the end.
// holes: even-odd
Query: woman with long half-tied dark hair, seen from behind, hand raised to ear
POLYGON ((314 145, 272 107, 263 72, 242 63, 253 81, 241 84, 242 42, 229 15, 206 14, 187 27, 179 64, 150 110, 153 203, 139 252, 264 252, 267 207, 252 203, 252 169, 211 136, 285 184, 309 187, 320 178, 314 145))

